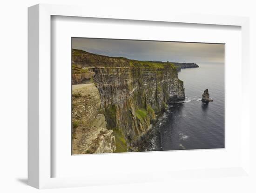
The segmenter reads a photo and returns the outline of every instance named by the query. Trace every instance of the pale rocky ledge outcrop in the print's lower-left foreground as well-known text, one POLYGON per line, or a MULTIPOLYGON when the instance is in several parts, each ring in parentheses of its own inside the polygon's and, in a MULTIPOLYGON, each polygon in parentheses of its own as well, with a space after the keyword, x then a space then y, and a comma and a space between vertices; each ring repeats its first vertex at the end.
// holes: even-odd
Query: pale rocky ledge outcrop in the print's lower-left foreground
POLYGON ((99 114, 101 96, 94 84, 73 85, 72 154, 112 153, 115 151, 113 130, 107 129, 99 114))

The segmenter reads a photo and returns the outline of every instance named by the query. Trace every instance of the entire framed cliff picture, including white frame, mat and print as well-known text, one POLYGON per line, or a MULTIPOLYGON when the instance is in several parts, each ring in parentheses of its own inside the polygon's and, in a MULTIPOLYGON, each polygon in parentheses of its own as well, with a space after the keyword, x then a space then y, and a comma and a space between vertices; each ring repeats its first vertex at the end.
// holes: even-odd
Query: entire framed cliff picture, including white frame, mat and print
POLYGON ((28 184, 250 178, 249 19, 84 10, 28 8, 28 184))

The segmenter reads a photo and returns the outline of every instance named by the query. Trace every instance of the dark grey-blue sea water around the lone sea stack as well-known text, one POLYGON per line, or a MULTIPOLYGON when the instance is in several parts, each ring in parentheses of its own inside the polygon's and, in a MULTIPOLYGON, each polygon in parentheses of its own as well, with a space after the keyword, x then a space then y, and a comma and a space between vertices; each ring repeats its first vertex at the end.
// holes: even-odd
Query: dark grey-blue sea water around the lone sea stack
POLYGON ((168 105, 145 151, 224 148, 224 64, 198 65, 179 72, 186 99, 168 105), (202 103, 205 89, 214 102, 202 103))

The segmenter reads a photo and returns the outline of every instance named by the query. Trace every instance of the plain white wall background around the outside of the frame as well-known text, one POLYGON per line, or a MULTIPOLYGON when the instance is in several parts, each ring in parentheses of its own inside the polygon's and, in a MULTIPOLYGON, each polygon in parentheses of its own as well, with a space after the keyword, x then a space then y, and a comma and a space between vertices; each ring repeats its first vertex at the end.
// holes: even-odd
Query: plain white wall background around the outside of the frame
MULTIPOLYGON (((0 192, 36 192, 27 183, 27 7, 37 3, 81 4, 97 11, 97 7, 115 6, 135 11, 239 15, 250 17, 251 97, 256 96, 256 6, 253 0, 5 0, 0 4, 0 192), (254 64, 254 65, 253 65, 254 64)), ((235 96, 234 96, 235 97, 235 96)), ((234 105, 239 105, 239 102, 234 105)), ((256 109, 252 100, 251 109, 256 109)), ((251 110, 256 115, 254 110, 251 110)), ((252 120, 253 121, 253 120, 252 120)), ((251 122, 256 128, 255 122, 251 122)), ((254 136, 256 132, 251 133, 254 136)), ((255 142, 251 148, 255 149, 255 142)), ((254 151, 256 152, 256 151, 254 151)), ((255 155, 254 155, 254 163, 255 155)), ((253 166, 254 167, 254 166, 253 166)), ((255 169, 255 167, 254 167, 255 169)), ((249 181, 236 178, 192 180, 178 184, 162 182, 107 187, 55 189, 46 192, 253 192, 249 181)), ((255 189, 254 189, 255 191, 255 189)))

